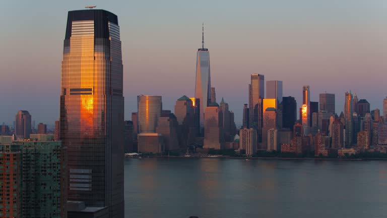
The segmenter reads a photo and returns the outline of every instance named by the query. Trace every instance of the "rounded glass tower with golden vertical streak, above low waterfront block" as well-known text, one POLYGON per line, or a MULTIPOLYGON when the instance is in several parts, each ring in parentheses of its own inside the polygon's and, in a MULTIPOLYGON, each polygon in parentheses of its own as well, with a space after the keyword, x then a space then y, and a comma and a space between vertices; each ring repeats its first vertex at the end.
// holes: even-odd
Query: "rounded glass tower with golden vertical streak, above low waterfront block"
POLYGON ((161 96, 139 95, 137 105, 139 133, 155 133, 162 112, 161 96))

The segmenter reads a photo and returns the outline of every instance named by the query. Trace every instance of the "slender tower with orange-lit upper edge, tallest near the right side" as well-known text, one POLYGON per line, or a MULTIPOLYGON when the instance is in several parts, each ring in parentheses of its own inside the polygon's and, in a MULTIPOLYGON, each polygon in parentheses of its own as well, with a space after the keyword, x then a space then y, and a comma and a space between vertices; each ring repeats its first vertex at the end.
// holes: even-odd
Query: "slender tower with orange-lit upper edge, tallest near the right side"
POLYGON ((344 121, 345 121, 345 147, 352 146, 353 138, 353 103, 352 103, 352 93, 345 93, 345 103, 344 103, 344 121))

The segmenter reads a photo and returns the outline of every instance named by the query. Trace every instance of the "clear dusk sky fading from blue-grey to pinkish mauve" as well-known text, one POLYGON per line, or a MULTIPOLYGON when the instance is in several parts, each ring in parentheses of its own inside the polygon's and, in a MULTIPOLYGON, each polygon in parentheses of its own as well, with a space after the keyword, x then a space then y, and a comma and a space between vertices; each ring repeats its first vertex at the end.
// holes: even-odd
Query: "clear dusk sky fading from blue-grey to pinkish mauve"
MULTIPOLYGON (((284 96, 301 103, 324 91, 367 99, 371 110, 387 95, 387 1, 3 1, 0 7, 0 124, 19 110, 53 125, 59 116, 60 64, 67 12, 86 5, 118 16, 125 119, 137 95, 162 95, 174 110, 195 92, 196 52, 210 51, 211 82, 241 124, 251 73, 282 80, 284 96)), ((265 90, 266 91, 266 90, 265 90)))

